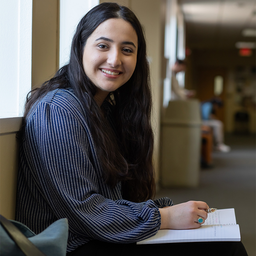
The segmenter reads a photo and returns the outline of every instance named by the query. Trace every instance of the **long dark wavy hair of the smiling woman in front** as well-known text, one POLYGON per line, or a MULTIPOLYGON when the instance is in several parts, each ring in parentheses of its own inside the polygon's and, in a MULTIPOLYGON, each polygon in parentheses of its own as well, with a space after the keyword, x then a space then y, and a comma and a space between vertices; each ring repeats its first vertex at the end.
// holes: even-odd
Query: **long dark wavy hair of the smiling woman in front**
POLYGON ((124 199, 142 202, 152 198, 155 194, 150 123, 152 100, 146 42, 143 28, 129 8, 116 3, 102 3, 84 15, 73 37, 69 63, 60 68, 52 79, 28 94, 24 119, 38 99, 57 88, 72 88, 82 102, 91 123, 105 182, 114 187, 122 181, 124 199), (111 18, 131 23, 138 36, 137 64, 132 77, 108 95, 114 106, 117 138, 94 100, 97 88, 84 73, 82 63, 87 38, 102 22, 111 18))

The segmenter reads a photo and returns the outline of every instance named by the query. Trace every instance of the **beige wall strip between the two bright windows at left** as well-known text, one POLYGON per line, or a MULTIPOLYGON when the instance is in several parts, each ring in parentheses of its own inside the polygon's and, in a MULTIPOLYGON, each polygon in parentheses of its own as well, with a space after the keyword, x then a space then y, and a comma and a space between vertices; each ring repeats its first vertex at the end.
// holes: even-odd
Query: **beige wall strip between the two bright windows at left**
POLYGON ((33 0, 32 87, 59 68, 59 0, 33 0))

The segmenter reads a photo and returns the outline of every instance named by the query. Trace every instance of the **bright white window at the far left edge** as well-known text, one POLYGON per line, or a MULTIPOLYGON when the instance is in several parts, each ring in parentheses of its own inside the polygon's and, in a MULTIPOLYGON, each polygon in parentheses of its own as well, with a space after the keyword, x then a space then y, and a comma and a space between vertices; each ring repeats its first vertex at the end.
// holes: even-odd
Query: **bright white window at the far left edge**
POLYGON ((0 9, 0 117, 23 115, 31 90, 32 0, 2 0, 0 9))

